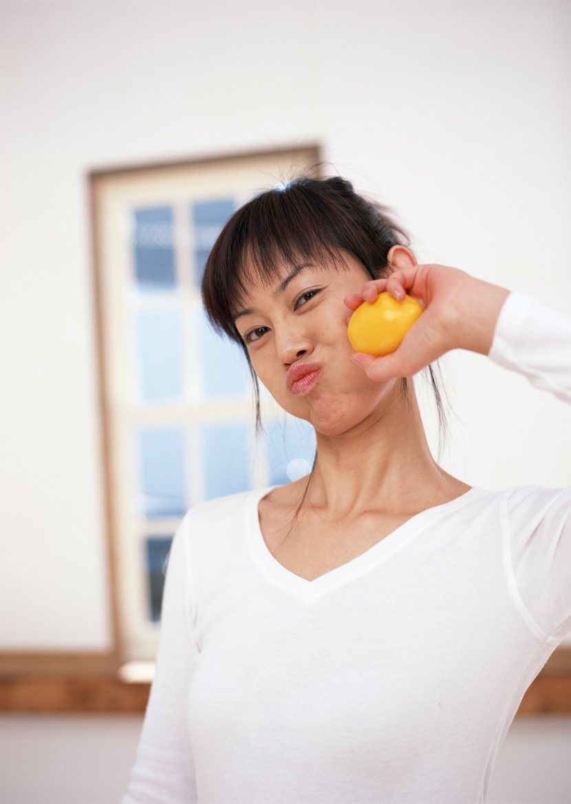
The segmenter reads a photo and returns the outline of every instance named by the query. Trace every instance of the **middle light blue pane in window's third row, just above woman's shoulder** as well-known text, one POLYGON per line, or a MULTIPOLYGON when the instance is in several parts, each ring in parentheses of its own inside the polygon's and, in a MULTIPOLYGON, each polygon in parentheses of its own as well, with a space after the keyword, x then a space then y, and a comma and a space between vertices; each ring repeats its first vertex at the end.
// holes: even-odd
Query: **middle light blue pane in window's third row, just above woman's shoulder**
POLYGON ((202 446, 207 499, 250 488, 249 432, 245 425, 203 427, 202 446))

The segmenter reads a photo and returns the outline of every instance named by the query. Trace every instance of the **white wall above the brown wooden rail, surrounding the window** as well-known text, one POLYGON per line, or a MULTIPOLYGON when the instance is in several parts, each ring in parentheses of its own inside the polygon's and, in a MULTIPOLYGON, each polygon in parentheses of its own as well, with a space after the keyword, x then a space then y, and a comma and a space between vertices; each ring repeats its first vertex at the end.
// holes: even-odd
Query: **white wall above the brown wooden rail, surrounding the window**
MULTIPOLYGON (((569 309, 570 10, 0 2, 0 648, 109 646, 88 170, 318 141, 423 259, 569 309)), ((476 356, 448 375, 448 466, 569 483, 563 404, 476 356)))

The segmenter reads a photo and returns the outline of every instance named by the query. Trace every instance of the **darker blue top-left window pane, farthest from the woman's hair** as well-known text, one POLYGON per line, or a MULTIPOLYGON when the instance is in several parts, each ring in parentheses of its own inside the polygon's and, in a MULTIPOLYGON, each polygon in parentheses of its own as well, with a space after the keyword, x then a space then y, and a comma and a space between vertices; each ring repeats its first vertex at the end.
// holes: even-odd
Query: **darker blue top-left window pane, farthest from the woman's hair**
POLYGON ((175 228, 171 207, 134 211, 134 256, 139 290, 175 287, 175 228))

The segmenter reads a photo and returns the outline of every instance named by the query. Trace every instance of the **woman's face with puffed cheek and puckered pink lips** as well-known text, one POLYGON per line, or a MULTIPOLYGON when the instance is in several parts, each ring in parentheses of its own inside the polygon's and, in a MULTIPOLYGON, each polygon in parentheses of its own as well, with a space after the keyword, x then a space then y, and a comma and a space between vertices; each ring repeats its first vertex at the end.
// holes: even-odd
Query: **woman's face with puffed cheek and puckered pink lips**
POLYGON ((284 263, 271 286, 251 286, 235 315, 261 383, 287 412, 331 436, 368 426, 399 399, 398 380, 373 383, 351 363, 343 300, 371 277, 354 256, 342 259, 284 263))

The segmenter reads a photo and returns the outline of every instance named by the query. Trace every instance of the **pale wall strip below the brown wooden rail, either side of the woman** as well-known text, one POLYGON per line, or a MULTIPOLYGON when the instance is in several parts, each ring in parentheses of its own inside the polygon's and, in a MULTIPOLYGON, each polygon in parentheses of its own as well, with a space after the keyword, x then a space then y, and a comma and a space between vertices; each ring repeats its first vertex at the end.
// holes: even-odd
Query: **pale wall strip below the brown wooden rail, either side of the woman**
MULTIPOLYGON (((0 802, 119 802, 141 724, 129 715, 0 716, 0 802)), ((571 717, 518 718, 496 757, 487 804, 569 804, 570 752, 571 717)))

